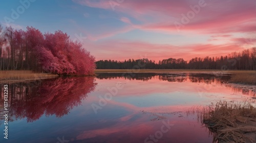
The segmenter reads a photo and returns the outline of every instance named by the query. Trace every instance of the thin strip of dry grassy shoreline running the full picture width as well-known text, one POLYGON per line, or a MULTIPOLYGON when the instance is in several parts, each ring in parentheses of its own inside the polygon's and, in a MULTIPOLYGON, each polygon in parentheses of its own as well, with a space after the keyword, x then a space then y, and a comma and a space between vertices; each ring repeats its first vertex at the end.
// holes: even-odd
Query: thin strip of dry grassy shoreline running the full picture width
MULTIPOLYGON (((40 79, 49 79, 56 77, 83 77, 83 76, 95 76, 100 73, 163 73, 163 74, 189 74, 189 73, 198 73, 198 74, 211 74, 211 75, 232 75, 232 77, 241 76, 241 75, 253 75, 248 77, 251 80, 255 75, 256 81, 256 71, 240 71, 240 70, 188 70, 188 69, 95 69, 94 75, 57 75, 49 73, 34 73, 32 71, 0 71, 0 83, 13 83, 13 82, 27 82, 31 80, 40 80, 40 79), (6 75, 6 74, 9 75, 6 75), (2 75, 1 75, 2 74, 2 75)), ((230 81, 231 84, 238 85, 255 85, 247 83, 246 77, 243 77, 237 81, 230 81), (241 81, 242 80, 242 81, 241 81)))

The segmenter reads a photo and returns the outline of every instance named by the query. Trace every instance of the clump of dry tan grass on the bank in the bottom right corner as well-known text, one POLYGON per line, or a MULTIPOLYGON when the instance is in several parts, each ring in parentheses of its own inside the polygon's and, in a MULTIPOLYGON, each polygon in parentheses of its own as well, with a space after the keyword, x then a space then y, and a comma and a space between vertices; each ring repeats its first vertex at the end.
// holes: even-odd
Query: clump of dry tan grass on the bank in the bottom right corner
POLYGON ((256 142, 248 136, 256 133, 256 108, 250 103, 220 101, 204 108, 201 120, 214 133, 213 142, 256 142))

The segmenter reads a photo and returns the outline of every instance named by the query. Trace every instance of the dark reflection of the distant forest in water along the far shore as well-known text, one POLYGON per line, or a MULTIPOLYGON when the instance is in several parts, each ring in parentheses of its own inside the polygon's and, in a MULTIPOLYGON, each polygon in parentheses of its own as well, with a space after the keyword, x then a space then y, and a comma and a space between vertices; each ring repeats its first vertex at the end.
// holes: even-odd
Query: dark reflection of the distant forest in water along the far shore
MULTIPOLYGON (((250 90, 248 85, 240 86, 237 84, 230 84, 231 74, 210 74, 210 73, 99 73, 98 79, 125 79, 125 80, 155 80, 168 82, 195 82, 206 84, 224 84, 226 87, 232 89, 233 92, 255 97, 255 91, 250 90)), ((215 85, 214 85, 215 86, 215 85)), ((253 87, 253 86, 251 86, 253 87)))

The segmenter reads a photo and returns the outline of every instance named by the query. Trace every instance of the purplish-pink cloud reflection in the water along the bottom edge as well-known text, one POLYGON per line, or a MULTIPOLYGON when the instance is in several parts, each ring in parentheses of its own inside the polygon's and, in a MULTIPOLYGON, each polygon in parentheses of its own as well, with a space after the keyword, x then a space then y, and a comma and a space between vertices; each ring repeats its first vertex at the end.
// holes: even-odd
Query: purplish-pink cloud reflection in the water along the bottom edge
POLYGON ((101 128, 83 131, 77 135, 76 139, 84 142, 144 142, 148 136, 155 135, 155 132, 159 131, 162 126, 166 130, 167 128, 164 126, 163 121, 167 122, 169 120, 169 124, 174 124, 174 126, 163 134, 159 142, 162 140, 197 142, 199 136, 203 142, 211 140, 205 129, 201 128, 201 125, 196 120, 182 120, 178 118, 178 115, 165 115, 169 118, 153 122, 148 120, 148 116, 154 115, 151 113, 137 113, 130 120, 115 121, 111 126, 97 123, 100 124, 101 128))

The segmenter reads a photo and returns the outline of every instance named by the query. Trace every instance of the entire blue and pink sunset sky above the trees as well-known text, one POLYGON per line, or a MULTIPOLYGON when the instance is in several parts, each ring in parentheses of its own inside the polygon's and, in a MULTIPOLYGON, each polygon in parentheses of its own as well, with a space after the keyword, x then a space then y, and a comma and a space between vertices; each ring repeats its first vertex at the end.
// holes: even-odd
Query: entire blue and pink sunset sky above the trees
POLYGON ((0 18, 61 30, 96 60, 190 60, 256 44, 256 0, 1 0, 0 18))

